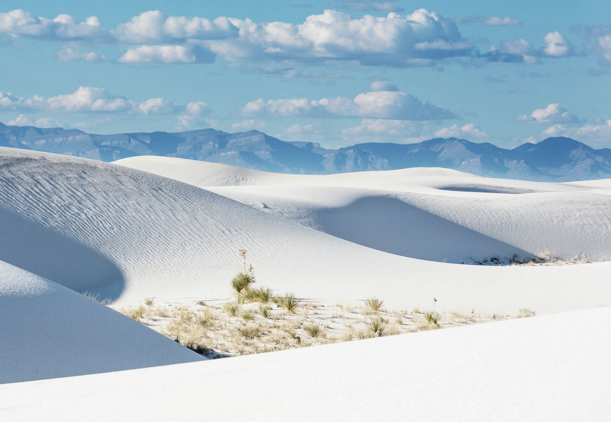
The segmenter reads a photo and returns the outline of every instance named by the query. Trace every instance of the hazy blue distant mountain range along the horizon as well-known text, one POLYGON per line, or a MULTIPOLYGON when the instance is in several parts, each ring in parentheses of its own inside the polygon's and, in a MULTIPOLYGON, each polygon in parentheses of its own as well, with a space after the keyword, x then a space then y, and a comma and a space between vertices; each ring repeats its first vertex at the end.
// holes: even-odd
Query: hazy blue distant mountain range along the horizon
POLYGON ((279 173, 327 174, 406 167, 445 167, 481 176, 538 181, 611 178, 611 150, 595 150, 568 137, 547 138, 512 150, 466 139, 419 144, 371 142, 326 149, 315 142, 285 142, 265 133, 214 129, 167 133, 89 134, 78 129, 6 126, 0 147, 46 151, 102 161, 162 155, 279 173))

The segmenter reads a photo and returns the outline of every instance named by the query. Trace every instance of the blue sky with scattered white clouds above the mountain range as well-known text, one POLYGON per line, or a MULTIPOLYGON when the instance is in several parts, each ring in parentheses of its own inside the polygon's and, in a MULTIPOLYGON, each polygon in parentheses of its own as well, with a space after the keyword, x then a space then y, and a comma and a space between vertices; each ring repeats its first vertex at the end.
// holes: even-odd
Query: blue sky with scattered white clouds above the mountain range
POLYGON ((610 12, 604 1, 4 0, 0 122, 257 129, 325 147, 450 136, 611 147, 610 12))

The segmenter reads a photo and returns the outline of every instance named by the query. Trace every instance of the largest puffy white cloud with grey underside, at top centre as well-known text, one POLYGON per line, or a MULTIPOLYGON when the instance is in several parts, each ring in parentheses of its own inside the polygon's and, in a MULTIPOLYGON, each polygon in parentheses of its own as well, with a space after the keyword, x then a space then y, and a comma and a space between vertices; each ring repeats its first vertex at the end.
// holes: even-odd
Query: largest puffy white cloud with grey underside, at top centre
POLYGON ((304 23, 253 21, 230 18, 240 36, 207 42, 227 60, 294 60, 323 63, 353 60, 363 65, 421 66, 448 57, 469 56, 472 45, 456 24, 426 9, 411 15, 389 13, 353 19, 325 10, 304 23))

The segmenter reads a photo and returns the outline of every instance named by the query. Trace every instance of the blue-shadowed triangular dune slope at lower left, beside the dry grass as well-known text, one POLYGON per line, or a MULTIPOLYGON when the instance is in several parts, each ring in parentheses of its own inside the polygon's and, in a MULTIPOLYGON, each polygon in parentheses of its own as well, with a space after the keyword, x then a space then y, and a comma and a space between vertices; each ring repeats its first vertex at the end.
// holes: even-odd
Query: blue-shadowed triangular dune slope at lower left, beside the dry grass
POLYGON ((202 360, 95 300, 2 261, 0 343, 0 384, 202 360))

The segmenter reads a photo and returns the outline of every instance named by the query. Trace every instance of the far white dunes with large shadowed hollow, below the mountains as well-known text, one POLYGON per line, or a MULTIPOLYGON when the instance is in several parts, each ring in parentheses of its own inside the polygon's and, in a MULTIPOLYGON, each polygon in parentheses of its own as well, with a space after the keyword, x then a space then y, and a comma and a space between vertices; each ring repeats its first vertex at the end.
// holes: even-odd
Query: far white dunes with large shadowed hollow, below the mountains
POLYGON ((611 259, 611 189, 491 179, 447 169, 284 175, 201 161, 117 164, 233 198, 397 255, 450 263, 555 254, 611 259), (236 186, 240 185, 240 186, 236 186))

